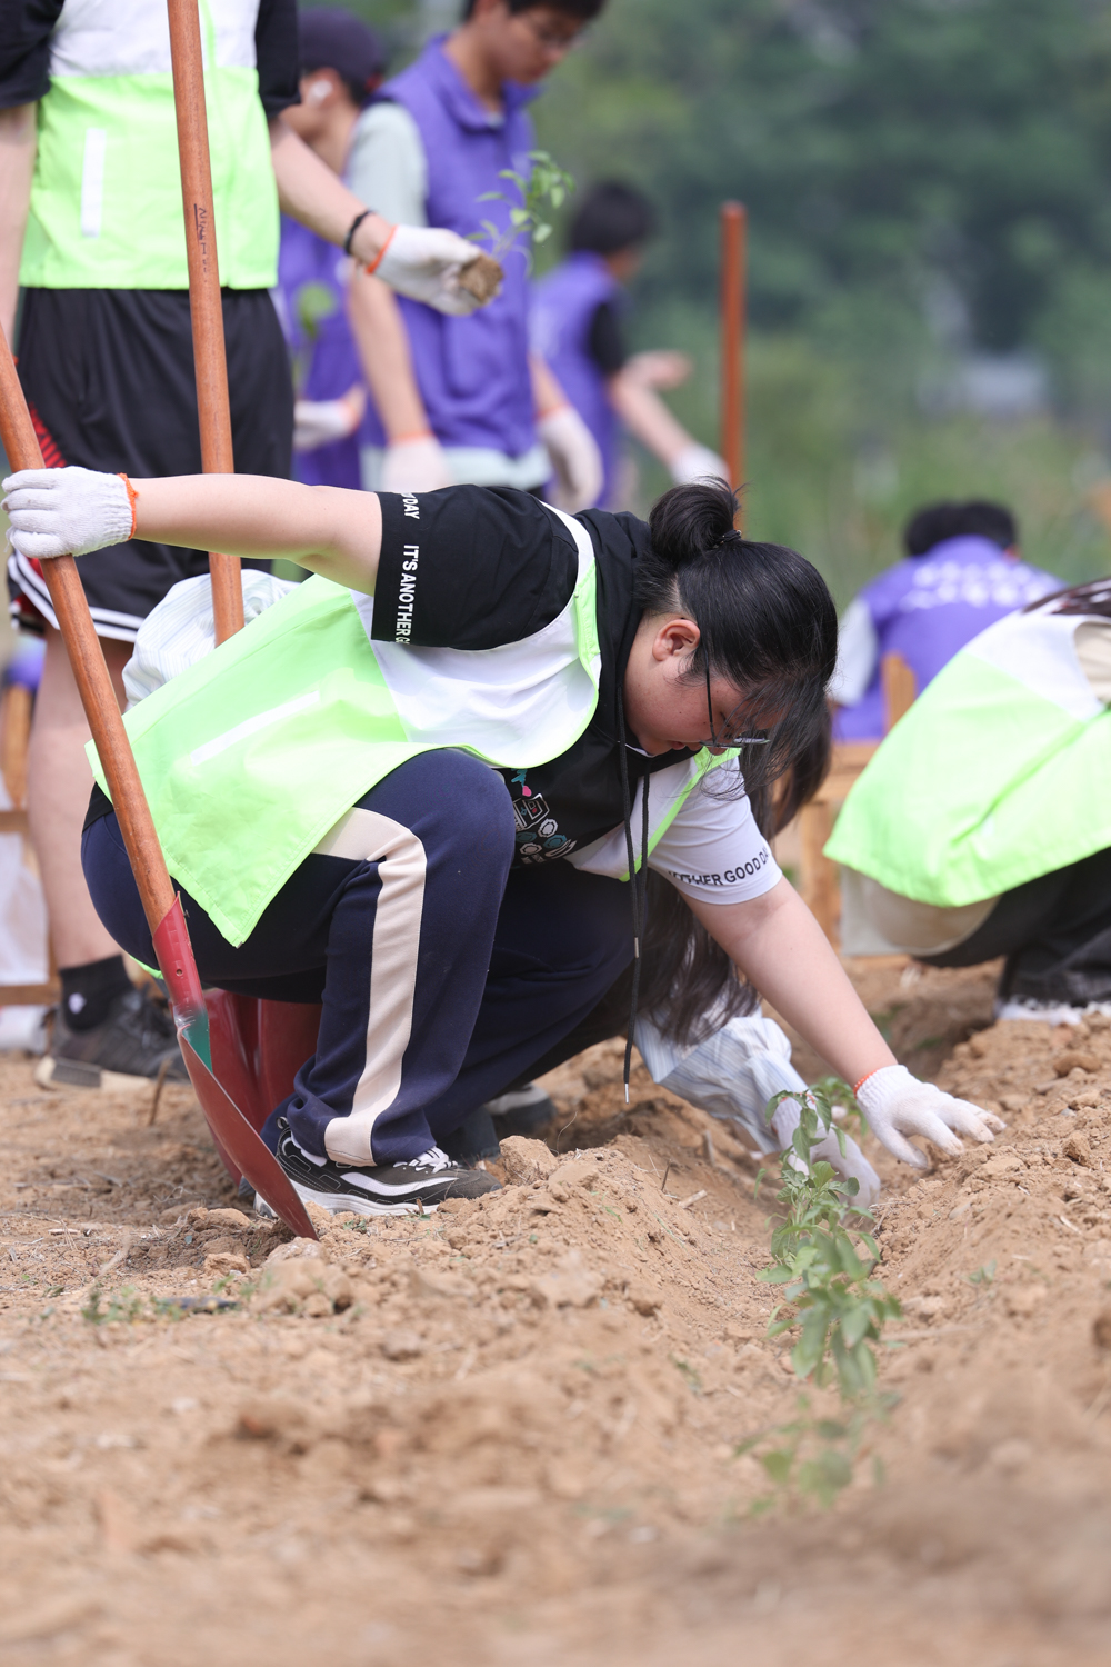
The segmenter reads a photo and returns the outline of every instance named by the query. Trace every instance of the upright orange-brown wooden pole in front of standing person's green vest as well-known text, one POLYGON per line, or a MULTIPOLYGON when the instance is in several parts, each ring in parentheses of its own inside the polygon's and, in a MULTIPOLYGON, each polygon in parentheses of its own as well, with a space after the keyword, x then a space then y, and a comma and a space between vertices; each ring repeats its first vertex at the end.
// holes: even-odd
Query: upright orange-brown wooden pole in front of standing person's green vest
MULTIPOLYGON (((217 217, 212 200, 205 63, 200 50, 197 0, 167 0, 173 105, 182 162, 182 205, 188 255, 188 303, 193 322, 193 365, 200 417, 200 458, 207 475, 233 475, 228 358, 223 347, 223 302, 217 258, 217 217)), ((243 585, 238 555, 208 557, 217 642, 243 628, 243 585)))

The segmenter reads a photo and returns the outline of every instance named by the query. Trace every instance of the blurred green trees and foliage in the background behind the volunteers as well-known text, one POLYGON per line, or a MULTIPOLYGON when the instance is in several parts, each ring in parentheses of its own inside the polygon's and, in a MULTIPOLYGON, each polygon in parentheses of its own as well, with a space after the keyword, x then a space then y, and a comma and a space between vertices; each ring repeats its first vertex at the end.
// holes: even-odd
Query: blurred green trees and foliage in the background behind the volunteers
MULTIPOLYGON (((398 67, 456 15, 350 3, 398 67)), ((708 443, 716 212, 748 205, 751 533, 844 603, 913 507, 976 493, 1039 565, 1111 568, 1106 0, 610 0, 533 108, 580 188, 656 203, 630 333, 693 355, 673 402, 708 443)))

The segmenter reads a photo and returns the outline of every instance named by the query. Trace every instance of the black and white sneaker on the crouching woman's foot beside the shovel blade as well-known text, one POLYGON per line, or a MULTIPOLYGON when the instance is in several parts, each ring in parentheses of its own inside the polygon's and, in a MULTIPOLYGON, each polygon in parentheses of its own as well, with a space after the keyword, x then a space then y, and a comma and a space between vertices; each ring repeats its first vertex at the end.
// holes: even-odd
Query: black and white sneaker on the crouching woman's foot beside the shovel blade
POLYGON ((501 1187, 500 1180, 481 1169, 453 1164, 440 1147, 430 1147, 406 1164, 343 1167, 331 1159, 303 1152, 285 1117, 278 1119, 275 1155, 298 1199, 333 1214, 353 1210, 356 1215, 416 1215, 423 1210, 428 1215, 445 1199, 478 1199, 501 1187))

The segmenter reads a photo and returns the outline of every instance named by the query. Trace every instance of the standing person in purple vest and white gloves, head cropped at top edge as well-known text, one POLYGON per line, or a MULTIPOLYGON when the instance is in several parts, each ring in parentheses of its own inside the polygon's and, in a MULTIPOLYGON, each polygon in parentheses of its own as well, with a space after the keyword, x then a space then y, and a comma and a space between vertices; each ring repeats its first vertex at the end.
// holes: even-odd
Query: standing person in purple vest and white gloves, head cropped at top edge
MULTIPOLYGON (((530 172, 525 107, 603 5, 466 0, 458 28, 430 40, 358 118, 351 187, 368 192, 386 220, 463 237, 485 220, 508 227, 510 203, 483 197, 511 190, 503 170, 530 172)), ((368 273, 351 283, 363 363, 378 368, 371 393, 381 428, 361 453, 368 490, 536 490, 555 468, 563 508, 596 500, 601 460, 590 430, 546 367, 530 362, 528 248, 518 242, 501 265, 501 292, 471 318, 400 302, 368 273)))

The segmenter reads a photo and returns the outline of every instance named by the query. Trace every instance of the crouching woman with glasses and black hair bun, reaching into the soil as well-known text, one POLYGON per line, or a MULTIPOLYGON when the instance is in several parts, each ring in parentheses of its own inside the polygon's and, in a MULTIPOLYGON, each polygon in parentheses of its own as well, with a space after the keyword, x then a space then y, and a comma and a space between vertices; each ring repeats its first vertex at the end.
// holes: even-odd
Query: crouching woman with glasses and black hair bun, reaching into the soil
MULTIPOLYGON (((38 560, 130 533, 318 575, 215 650, 208 582, 178 585, 127 717, 202 979, 323 1000, 263 1130, 303 1199, 378 1214, 493 1185, 440 1142, 630 964, 630 1029, 643 1007, 705 1032, 760 990, 909 1164, 908 1135, 953 1152, 1001 1127, 894 1062, 768 849, 776 783, 788 817, 828 758, 836 613, 810 562, 735 532, 725 482, 673 487, 648 523, 483 487, 63 468, 5 490, 38 560), (655 935, 648 870, 675 905, 655 935)), ((150 964, 97 778, 90 894, 150 964)))

